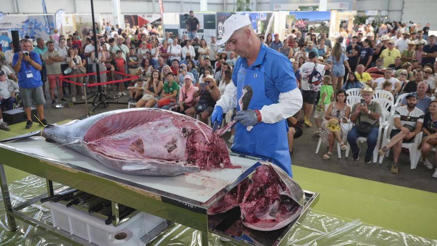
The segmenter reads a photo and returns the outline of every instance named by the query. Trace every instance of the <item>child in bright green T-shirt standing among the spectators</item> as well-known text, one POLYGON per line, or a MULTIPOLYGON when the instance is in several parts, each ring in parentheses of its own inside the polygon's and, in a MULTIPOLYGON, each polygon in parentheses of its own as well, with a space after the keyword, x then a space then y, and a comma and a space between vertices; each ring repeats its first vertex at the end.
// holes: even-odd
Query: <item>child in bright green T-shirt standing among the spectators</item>
POLYGON ((323 78, 323 84, 320 87, 319 102, 317 103, 316 112, 314 113, 314 119, 317 125, 317 129, 313 132, 315 135, 319 135, 322 130, 322 121, 325 118, 325 109, 334 99, 334 89, 331 85, 331 77, 325 76, 323 78))

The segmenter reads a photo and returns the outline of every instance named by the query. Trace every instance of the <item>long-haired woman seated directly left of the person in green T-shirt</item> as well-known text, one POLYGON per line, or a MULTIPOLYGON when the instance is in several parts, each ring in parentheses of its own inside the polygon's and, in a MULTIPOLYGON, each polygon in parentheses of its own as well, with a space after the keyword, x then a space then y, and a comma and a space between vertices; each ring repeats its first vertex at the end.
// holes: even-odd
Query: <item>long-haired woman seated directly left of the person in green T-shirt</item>
POLYGON ((154 106, 160 98, 163 86, 164 83, 161 81, 161 75, 159 74, 159 71, 153 71, 151 78, 146 82, 146 85, 143 86, 144 95, 138 100, 138 102, 135 104, 135 107, 149 108, 154 106))

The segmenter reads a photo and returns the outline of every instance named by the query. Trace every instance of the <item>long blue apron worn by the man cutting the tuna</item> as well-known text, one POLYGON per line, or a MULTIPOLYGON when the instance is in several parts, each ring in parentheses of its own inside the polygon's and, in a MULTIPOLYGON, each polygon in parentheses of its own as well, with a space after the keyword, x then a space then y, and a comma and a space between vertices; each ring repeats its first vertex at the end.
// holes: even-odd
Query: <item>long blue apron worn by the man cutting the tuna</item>
MULTIPOLYGON (((254 69, 245 69, 240 66, 237 75, 237 99, 241 97, 243 87, 250 85, 253 96, 248 109, 260 110, 264 105, 270 105, 274 102, 265 93, 264 66, 256 66, 254 69)), ((237 111, 239 110, 240 107, 237 104, 237 111)), ((247 131, 246 127, 238 122, 231 150, 263 160, 272 159, 274 164, 282 167, 292 177, 287 128, 286 119, 275 124, 260 122, 251 131, 247 131)))

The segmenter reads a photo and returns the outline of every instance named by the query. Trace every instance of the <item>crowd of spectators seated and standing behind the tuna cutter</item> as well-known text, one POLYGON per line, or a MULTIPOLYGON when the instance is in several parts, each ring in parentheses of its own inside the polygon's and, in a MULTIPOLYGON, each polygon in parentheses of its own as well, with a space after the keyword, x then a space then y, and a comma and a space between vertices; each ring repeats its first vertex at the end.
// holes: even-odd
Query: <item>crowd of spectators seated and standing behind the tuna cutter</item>
MULTIPOLYGON (((62 83, 58 77, 92 73, 98 68, 109 73, 102 73, 99 78, 83 76, 72 80, 94 83, 97 79, 120 80, 124 78, 122 74, 139 76, 131 82, 103 86, 103 91, 129 96, 129 103, 135 107, 170 109, 208 123, 216 102, 232 82, 238 57, 228 46, 219 47, 214 34, 206 38, 198 33, 199 29, 200 22, 191 11, 181 37, 172 32, 160 34, 162 30, 153 26, 127 24, 123 29, 104 22, 95 34, 56 32, 46 41, 23 39, 21 49, 26 50, 24 46, 29 44, 28 55, 14 54, 12 50, 0 56, 1 109, 9 109, 18 92, 9 79, 18 81, 23 106, 28 108, 35 102, 40 119, 47 123, 42 109, 46 82, 52 103, 56 99, 74 103, 84 100, 82 87, 62 83), (97 45, 97 56, 94 45, 97 45), (40 83, 36 82, 38 79, 40 83)), ((288 119, 290 153, 294 139, 304 132, 303 126, 313 127, 315 122, 313 134, 328 143, 323 159, 331 158, 337 141, 341 150, 350 148, 352 159, 358 161, 361 150, 357 139, 364 137, 367 144, 364 162, 370 163, 375 148, 379 148, 378 127, 392 117, 392 141, 379 150, 382 155, 393 149, 391 172, 398 172, 402 143, 417 141, 415 137, 420 132, 425 134, 423 141, 420 140, 421 161, 434 168, 435 164, 427 158, 437 145, 437 120, 434 120, 437 103, 431 98, 437 87, 437 45, 436 37, 428 35, 429 30, 429 24, 421 28, 419 24, 392 22, 376 28, 370 24, 355 25, 352 30, 341 28, 330 38, 325 32, 315 33, 314 28, 309 28, 308 33, 293 30, 283 40, 277 33, 260 35, 263 45, 290 59, 302 92, 302 110, 288 119), (360 101, 353 104, 348 101, 350 89, 360 89, 360 101), (401 96, 394 115, 384 116, 387 113, 384 105, 372 100, 378 91, 387 92, 384 99, 393 104, 401 96)), ((235 110, 225 114, 229 122, 235 110)), ((31 125, 28 117, 27 126, 31 125)), ((1 123, 0 129, 7 126, 1 123)), ((229 139, 232 141, 233 137, 229 139)), ((433 177, 437 177, 437 169, 433 177)))

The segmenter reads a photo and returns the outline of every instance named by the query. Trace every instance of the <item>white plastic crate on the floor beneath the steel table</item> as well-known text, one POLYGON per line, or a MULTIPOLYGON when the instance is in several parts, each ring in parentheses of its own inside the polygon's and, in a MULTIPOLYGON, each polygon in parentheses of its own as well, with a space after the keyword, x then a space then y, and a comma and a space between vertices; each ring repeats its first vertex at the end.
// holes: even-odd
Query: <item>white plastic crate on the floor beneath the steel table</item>
POLYGON ((138 235, 142 238, 164 221, 162 218, 141 212, 120 226, 114 227, 112 224, 106 225, 103 219, 73 207, 67 208, 56 202, 46 202, 44 205, 50 209, 54 227, 99 246, 110 245, 109 235, 122 230, 138 230, 138 235))

